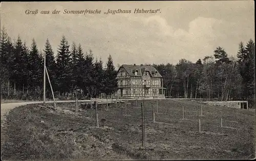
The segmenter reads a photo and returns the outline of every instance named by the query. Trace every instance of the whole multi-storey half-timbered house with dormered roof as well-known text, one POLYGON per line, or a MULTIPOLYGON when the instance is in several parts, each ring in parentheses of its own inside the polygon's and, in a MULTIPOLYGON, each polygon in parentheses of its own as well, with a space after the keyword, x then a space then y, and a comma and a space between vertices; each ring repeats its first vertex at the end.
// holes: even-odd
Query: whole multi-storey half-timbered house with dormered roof
POLYGON ((162 98, 163 78, 153 66, 127 65, 119 67, 117 73, 118 98, 162 98))

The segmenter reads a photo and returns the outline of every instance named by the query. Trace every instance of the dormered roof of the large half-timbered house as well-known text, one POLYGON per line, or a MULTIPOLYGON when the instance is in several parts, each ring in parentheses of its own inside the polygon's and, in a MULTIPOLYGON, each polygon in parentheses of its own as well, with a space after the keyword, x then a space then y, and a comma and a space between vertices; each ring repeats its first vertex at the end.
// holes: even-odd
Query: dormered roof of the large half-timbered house
POLYGON ((135 76, 136 77, 135 72, 137 71, 138 72, 137 77, 141 77, 145 71, 148 71, 150 73, 151 77, 160 77, 160 78, 162 78, 162 76, 159 74, 159 72, 153 66, 136 65, 136 64, 134 64, 134 65, 123 64, 119 67, 119 70, 122 67, 125 69, 125 71, 130 76, 135 76))

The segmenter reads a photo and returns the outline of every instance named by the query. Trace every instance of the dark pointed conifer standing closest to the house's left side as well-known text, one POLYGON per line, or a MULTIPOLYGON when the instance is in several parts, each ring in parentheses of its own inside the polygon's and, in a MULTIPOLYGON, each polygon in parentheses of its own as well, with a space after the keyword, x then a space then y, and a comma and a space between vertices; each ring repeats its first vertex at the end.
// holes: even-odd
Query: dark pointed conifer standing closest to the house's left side
POLYGON ((111 55, 108 57, 108 62, 106 63, 105 70, 105 89, 104 92, 106 95, 111 95, 117 89, 117 79, 116 79, 117 71, 115 71, 115 67, 113 65, 113 60, 111 55))

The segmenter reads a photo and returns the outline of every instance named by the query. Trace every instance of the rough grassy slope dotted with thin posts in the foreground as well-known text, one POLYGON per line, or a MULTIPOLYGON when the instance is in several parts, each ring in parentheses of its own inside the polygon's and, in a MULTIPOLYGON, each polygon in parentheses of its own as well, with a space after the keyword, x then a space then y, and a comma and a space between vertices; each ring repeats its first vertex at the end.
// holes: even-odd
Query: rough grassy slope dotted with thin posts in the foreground
MULTIPOLYGON (((139 101, 139 105, 141 100, 139 101)), ((135 101, 99 105, 79 111, 74 103, 59 103, 57 111, 27 105, 9 112, 2 159, 38 160, 141 160, 141 159, 252 159, 255 157, 255 111, 203 105, 201 133, 197 132, 197 108, 188 100, 159 100, 157 123, 152 104, 145 100, 146 143, 141 147, 141 108, 135 101), (182 120, 184 106, 185 120, 182 120), (220 127, 222 110, 223 127, 220 127)))

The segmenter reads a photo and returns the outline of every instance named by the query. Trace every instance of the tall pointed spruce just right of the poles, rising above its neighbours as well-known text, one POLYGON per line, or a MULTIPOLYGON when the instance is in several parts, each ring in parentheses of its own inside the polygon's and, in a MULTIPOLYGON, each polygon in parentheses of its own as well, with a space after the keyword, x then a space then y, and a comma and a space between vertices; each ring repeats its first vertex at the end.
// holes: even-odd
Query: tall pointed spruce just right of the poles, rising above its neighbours
POLYGON ((57 85, 60 94, 66 94, 70 90, 70 80, 72 77, 71 68, 71 54, 69 51, 68 40, 65 36, 62 36, 60 45, 58 48, 57 58, 57 85))

